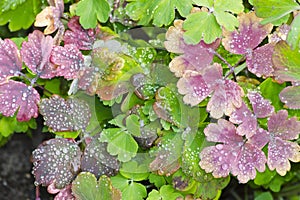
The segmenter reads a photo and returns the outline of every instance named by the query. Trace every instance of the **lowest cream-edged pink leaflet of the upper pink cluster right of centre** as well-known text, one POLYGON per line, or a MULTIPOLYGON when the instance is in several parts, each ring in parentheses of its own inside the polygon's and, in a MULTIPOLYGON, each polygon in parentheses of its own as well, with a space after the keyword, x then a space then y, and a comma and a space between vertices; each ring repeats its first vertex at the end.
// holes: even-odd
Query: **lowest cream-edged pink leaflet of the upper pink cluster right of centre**
POLYGON ((214 86, 214 93, 207 104, 207 111, 211 117, 220 118, 223 114, 229 116, 242 106, 243 89, 231 80, 218 80, 214 86))

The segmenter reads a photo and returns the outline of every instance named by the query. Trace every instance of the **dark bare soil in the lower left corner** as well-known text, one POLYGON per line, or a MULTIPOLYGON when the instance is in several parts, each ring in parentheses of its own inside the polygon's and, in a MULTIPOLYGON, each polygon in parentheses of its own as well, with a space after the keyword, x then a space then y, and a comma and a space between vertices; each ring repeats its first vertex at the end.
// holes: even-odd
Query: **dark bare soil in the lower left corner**
MULTIPOLYGON (((0 147, 0 200, 35 200, 31 152, 47 137, 44 133, 14 134, 0 147)), ((42 200, 53 199, 45 188, 40 192, 42 200)))

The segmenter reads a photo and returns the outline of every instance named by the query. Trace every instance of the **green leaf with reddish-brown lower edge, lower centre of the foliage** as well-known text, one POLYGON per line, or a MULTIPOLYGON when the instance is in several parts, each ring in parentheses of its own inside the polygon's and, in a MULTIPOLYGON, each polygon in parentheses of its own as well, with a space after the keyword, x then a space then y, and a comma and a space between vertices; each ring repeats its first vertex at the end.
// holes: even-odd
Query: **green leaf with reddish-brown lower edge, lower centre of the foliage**
POLYGON ((180 167, 180 157, 183 140, 178 133, 166 132, 157 149, 150 154, 155 159, 150 163, 151 171, 157 171, 159 175, 170 176, 180 167))

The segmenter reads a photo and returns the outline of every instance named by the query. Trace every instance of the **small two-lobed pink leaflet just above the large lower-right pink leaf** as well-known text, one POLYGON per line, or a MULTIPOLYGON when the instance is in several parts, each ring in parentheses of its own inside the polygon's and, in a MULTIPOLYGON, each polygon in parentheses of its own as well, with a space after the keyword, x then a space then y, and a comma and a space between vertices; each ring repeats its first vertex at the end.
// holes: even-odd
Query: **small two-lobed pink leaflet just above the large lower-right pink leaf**
POLYGON ((247 138, 250 138, 256 133, 257 119, 245 103, 242 103, 242 106, 230 115, 229 120, 232 123, 239 124, 237 133, 241 136, 246 135, 247 138))

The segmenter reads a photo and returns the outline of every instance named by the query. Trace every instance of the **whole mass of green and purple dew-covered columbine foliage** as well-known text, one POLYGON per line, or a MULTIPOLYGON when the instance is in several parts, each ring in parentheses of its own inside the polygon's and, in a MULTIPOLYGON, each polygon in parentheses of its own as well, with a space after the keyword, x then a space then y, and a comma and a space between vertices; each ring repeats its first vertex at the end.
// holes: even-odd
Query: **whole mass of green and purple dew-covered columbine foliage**
POLYGON ((289 173, 300 162, 299 15, 278 26, 286 12, 250 3, 82 0, 67 16, 49 1, 34 24, 44 33, 20 48, 0 40, 0 113, 41 114, 56 136, 32 153, 35 185, 55 199, 213 199, 230 177, 268 188, 289 173), (108 19, 170 26, 136 30, 143 41, 97 23, 108 19))

